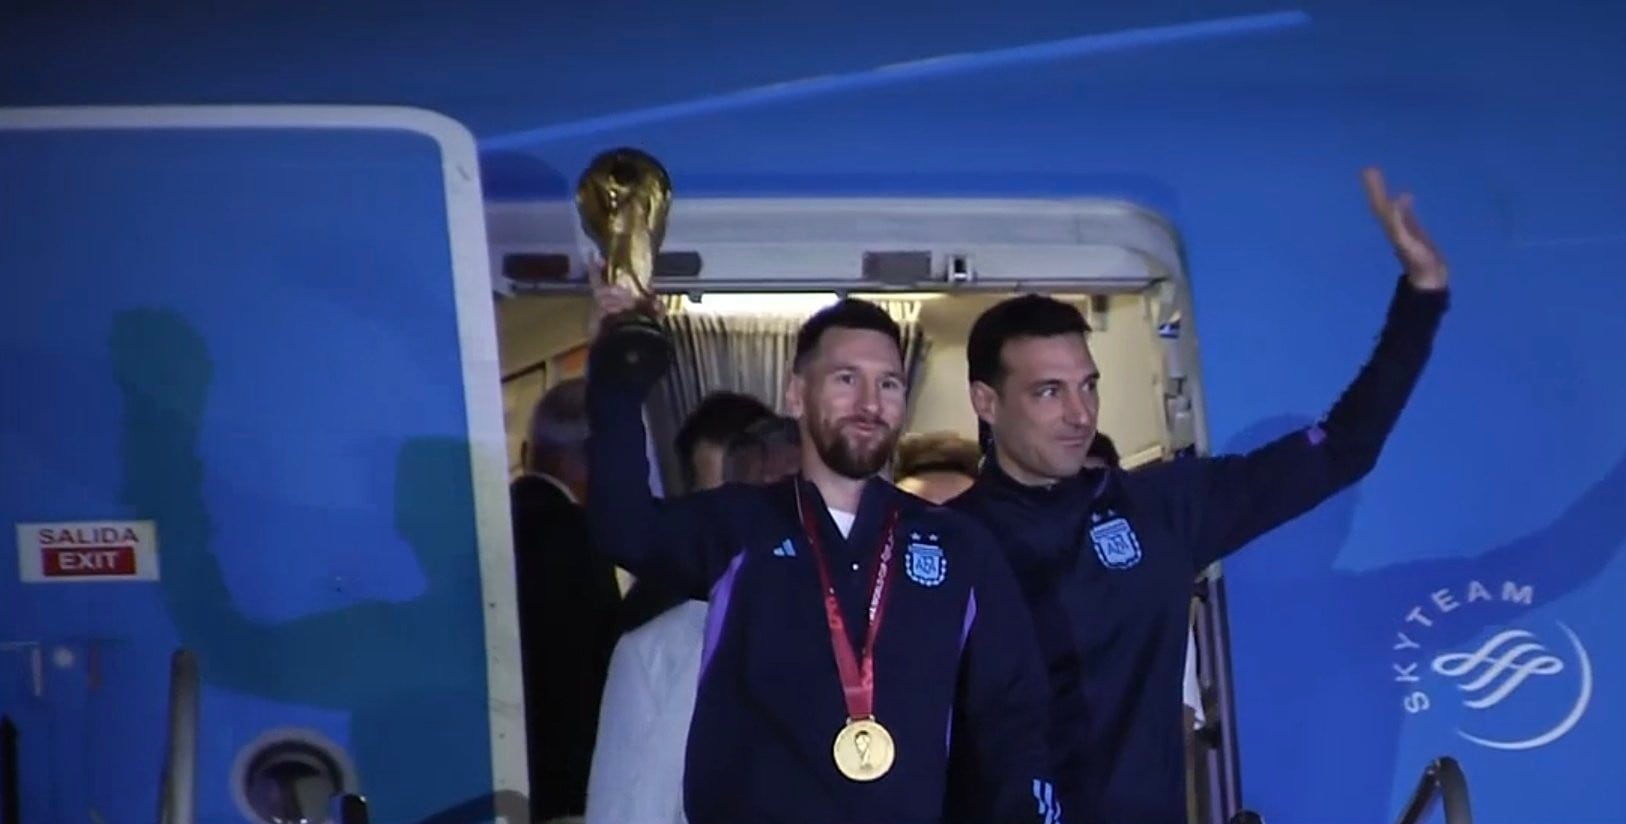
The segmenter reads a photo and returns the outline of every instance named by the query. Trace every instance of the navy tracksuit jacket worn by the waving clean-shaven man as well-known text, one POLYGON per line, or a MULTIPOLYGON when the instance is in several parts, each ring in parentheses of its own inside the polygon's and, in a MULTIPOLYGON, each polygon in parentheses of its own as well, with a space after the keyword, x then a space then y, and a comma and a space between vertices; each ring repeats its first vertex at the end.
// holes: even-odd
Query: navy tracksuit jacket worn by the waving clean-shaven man
POLYGON ((1402 280, 1372 358, 1327 418, 1246 455, 1086 470, 1050 488, 1018 484, 990 460, 950 502, 1000 538, 1033 611, 1073 822, 1185 822, 1193 577, 1372 470, 1446 307, 1446 293, 1402 280))

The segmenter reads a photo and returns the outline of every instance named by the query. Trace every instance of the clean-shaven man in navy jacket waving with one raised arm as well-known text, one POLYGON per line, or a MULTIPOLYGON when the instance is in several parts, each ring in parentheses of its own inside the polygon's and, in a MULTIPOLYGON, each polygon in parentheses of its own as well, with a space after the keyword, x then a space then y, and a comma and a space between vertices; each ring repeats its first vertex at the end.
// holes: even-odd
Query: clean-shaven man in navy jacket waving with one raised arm
POLYGON ((1400 258, 1387 322, 1320 424, 1246 455, 1086 466, 1098 371, 1078 309, 1005 301, 972 325, 971 401, 993 460, 951 505, 1002 538, 1047 657, 1055 777, 1086 821, 1185 821, 1182 658, 1193 577, 1363 478, 1433 349, 1447 270, 1406 195, 1364 174, 1400 258))

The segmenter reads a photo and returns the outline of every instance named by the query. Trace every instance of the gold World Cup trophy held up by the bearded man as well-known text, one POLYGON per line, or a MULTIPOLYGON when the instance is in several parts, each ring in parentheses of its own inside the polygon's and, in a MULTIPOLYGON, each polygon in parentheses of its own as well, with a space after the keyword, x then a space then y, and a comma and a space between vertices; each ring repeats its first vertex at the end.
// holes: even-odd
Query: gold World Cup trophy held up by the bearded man
POLYGON ((582 229, 603 257, 603 283, 623 286, 641 306, 603 319, 593 358, 616 382, 650 387, 672 366, 672 338, 655 320, 655 252, 667 234, 672 179, 655 158, 616 148, 593 158, 576 185, 582 229))

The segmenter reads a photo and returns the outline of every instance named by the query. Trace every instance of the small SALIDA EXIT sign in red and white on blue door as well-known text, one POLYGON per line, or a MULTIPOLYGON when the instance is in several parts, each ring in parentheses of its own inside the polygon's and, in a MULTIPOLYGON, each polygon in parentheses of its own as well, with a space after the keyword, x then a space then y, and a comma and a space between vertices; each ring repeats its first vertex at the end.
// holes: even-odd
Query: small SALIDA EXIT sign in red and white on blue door
POLYGON ((29 583, 158 580, 158 530, 150 520, 18 523, 16 556, 29 583))

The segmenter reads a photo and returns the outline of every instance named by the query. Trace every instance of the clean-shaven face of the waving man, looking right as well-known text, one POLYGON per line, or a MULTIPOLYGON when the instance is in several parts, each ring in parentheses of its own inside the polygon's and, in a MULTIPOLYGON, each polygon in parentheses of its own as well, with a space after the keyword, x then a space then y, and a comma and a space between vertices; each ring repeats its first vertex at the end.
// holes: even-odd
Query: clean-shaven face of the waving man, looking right
POLYGON ((998 385, 971 385, 977 416, 993 429, 1000 466, 1026 484, 1078 475, 1101 410, 1101 372, 1085 336, 1011 338, 1000 362, 998 385))

